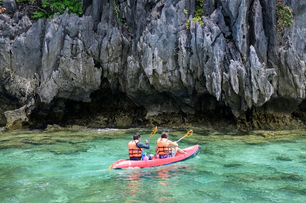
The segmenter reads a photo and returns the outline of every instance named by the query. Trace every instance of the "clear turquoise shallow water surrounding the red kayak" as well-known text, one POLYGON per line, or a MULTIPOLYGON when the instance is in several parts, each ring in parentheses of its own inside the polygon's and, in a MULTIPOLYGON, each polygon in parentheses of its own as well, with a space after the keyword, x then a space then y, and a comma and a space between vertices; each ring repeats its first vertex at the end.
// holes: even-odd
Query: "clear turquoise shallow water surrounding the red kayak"
MULTIPOLYGON (((170 131, 178 140, 189 129, 170 131)), ((306 131, 193 129, 181 148, 197 157, 152 168, 109 170, 137 131, 0 131, 2 203, 304 203, 306 131)), ((160 129, 151 138, 153 153, 160 129)))

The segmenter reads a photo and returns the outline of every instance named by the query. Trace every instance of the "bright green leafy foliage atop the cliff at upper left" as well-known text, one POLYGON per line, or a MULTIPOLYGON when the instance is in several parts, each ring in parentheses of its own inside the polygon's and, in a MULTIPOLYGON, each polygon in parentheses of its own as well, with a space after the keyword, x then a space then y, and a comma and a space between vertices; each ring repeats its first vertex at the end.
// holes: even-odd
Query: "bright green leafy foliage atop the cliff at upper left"
POLYGON ((66 8, 68 13, 83 15, 83 0, 16 0, 18 5, 29 7, 33 12, 32 18, 53 17, 55 13, 64 14, 66 8))

